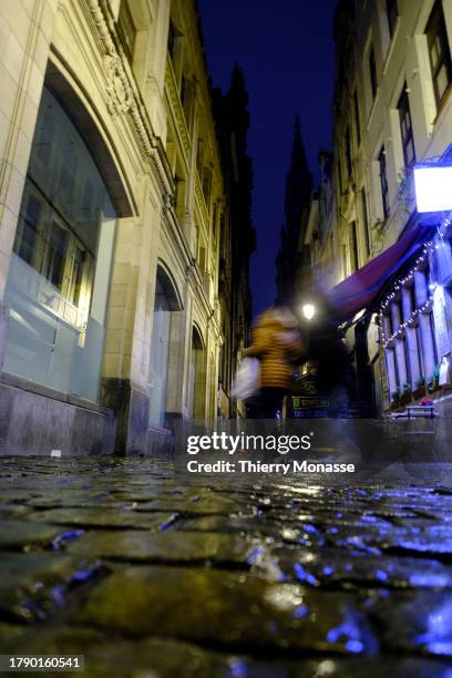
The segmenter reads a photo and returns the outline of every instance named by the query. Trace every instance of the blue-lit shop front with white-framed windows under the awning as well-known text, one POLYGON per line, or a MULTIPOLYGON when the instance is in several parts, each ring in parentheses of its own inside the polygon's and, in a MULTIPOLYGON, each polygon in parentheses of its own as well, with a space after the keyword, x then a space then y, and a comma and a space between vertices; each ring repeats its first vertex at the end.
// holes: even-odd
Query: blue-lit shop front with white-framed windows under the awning
POLYGON ((386 407, 441 394, 452 351, 452 228, 442 220, 380 306, 386 407))

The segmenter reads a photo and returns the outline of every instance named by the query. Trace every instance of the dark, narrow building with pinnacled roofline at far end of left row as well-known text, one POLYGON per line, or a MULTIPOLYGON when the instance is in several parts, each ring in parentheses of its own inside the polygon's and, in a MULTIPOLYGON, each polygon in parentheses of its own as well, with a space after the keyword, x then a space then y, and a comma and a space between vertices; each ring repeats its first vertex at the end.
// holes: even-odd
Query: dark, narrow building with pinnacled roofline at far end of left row
POLYGON ((247 346, 251 322, 249 258, 256 248, 251 223, 253 163, 247 153, 248 93, 242 69, 233 70, 226 94, 214 90, 214 110, 225 176, 224 225, 219 244, 219 288, 223 346, 219 360, 218 415, 244 417, 244 403, 229 386, 247 346))

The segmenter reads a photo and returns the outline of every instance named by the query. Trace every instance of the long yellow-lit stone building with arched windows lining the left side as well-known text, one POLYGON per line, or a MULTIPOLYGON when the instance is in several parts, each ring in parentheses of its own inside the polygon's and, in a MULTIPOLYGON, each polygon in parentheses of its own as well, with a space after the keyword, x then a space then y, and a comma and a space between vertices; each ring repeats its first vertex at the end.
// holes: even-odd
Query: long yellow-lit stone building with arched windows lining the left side
POLYGON ((195 2, 18 0, 0 34, 0 452, 153 451, 217 415, 229 222, 195 2))

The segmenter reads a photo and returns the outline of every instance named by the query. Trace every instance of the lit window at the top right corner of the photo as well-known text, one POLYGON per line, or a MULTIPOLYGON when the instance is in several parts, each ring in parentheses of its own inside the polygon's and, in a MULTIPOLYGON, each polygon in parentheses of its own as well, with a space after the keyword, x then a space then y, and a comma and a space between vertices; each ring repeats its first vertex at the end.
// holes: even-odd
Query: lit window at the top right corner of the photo
POLYGON ((436 106, 440 107, 452 82, 452 62, 441 2, 436 0, 425 29, 436 106))

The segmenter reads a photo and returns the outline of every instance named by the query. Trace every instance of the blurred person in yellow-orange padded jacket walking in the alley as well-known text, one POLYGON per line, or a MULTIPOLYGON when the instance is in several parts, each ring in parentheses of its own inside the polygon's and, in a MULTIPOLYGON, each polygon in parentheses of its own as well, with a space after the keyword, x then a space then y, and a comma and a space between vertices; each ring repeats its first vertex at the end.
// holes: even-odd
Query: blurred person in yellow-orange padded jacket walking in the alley
POLYGON ((289 309, 275 307, 258 317, 246 356, 260 362, 259 419, 275 419, 282 412, 284 398, 294 381, 294 364, 301 353, 297 320, 289 309))

